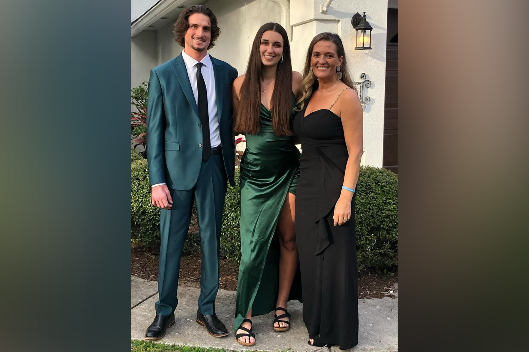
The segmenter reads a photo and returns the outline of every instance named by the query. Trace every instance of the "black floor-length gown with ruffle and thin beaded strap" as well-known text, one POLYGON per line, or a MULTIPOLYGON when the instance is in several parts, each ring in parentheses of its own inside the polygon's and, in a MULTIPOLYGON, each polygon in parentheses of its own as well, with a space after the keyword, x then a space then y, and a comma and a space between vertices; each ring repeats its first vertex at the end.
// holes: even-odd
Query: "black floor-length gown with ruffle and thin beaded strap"
POLYGON ((341 119, 329 109, 294 118, 302 145, 296 192, 296 242, 302 276, 303 320, 315 343, 348 349, 358 344, 358 268, 351 218, 333 225, 348 151, 341 119))

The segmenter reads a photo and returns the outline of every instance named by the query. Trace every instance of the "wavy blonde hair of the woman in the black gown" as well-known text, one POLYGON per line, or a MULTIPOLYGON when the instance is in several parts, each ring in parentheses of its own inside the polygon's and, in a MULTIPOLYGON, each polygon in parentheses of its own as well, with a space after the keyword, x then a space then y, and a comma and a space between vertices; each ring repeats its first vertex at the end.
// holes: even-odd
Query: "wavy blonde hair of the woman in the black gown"
POLYGON ((301 84, 301 90, 303 92, 303 95, 301 98, 298 99, 297 103, 299 106, 295 109, 296 111, 301 111, 303 109, 303 106, 305 105, 305 100, 311 97, 312 92, 318 88, 318 80, 312 74, 309 75, 311 72, 311 57, 312 57, 312 51, 314 49, 314 45, 317 42, 320 41, 327 41, 327 42, 333 42, 334 45, 336 45, 336 53, 338 53, 338 57, 343 56, 342 64, 340 65, 340 72, 342 72, 342 79, 341 81, 345 83, 348 87, 351 87, 354 89, 355 92, 358 94, 358 90, 356 87, 354 87, 354 81, 351 79, 351 76, 349 75, 349 69, 347 66, 347 60, 345 59, 345 50, 343 48, 342 40, 340 36, 336 33, 329 33, 324 32, 317 34, 311 41, 311 44, 308 46, 307 51, 307 58, 305 59, 305 66, 303 69, 303 82, 301 84))

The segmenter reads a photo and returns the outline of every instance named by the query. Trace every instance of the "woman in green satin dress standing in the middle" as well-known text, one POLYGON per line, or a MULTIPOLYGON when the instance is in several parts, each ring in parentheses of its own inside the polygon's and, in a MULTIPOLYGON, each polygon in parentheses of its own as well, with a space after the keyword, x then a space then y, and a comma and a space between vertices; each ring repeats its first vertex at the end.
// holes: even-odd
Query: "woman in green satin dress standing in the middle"
POLYGON ((301 300, 294 202, 299 150, 291 114, 302 82, 293 72, 287 33, 267 23, 253 41, 248 68, 233 82, 234 131, 246 137, 241 159, 241 264, 235 334, 255 344, 251 317, 276 310, 270 325, 290 328, 287 302, 301 300), (292 290, 291 290, 292 288, 292 290))

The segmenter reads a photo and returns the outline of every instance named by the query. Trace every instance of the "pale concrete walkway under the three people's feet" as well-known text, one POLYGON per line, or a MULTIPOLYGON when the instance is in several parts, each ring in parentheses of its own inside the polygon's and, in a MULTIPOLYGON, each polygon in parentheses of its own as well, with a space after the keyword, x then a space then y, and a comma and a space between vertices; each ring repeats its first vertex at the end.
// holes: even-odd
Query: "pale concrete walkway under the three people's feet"
MULTIPOLYGON (((143 339, 145 330, 151 324, 156 311, 154 302, 158 300, 158 283, 132 277, 132 339, 143 339)), ((287 332, 272 329, 273 312, 265 316, 253 317, 253 332, 256 345, 244 347, 237 343, 233 333, 233 314, 235 292, 221 290, 217 294, 215 308, 230 332, 227 337, 215 338, 206 332, 203 326, 195 322, 199 289, 178 288, 178 307, 175 311, 175 325, 167 329, 167 334, 156 342, 176 345, 217 347, 230 350, 259 350, 302 352, 316 351, 338 352, 338 346, 331 348, 311 347, 307 344, 307 329, 302 320, 302 304, 290 301, 288 311, 292 318, 291 328, 287 332)), ((359 344, 351 352, 397 351, 397 300, 361 299, 359 300, 359 344)))

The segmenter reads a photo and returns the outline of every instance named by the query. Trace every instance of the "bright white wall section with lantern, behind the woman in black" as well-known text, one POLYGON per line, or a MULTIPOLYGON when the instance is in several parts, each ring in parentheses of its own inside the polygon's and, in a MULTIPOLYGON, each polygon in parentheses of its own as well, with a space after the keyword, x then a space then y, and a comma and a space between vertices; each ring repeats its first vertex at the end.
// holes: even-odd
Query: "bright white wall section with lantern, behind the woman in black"
POLYGON ((308 45, 314 35, 322 32, 338 33, 345 47, 352 79, 360 80, 366 73, 371 87, 364 95, 371 102, 364 110, 362 165, 382 167, 384 146, 384 94, 386 82, 386 29, 387 1, 385 0, 333 0, 326 14, 320 13, 323 0, 290 0, 290 25, 293 26, 291 47, 292 68, 303 69, 308 45), (373 27, 372 50, 354 50, 356 31, 351 25, 355 13, 366 12, 373 27))

